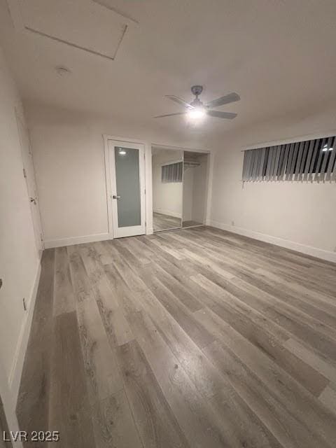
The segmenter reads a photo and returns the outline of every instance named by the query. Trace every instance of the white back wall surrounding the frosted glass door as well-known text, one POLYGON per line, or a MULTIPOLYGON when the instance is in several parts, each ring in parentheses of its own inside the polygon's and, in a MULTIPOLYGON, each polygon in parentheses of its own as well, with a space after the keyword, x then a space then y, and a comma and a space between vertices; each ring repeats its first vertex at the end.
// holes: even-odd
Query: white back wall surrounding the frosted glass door
MULTIPOLYGON (((108 237, 103 134, 151 143, 193 147, 190 141, 153 132, 136 123, 106 120, 27 104, 45 245, 55 247, 108 237)), ((146 176, 146 221, 153 232, 151 174, 146 176)))

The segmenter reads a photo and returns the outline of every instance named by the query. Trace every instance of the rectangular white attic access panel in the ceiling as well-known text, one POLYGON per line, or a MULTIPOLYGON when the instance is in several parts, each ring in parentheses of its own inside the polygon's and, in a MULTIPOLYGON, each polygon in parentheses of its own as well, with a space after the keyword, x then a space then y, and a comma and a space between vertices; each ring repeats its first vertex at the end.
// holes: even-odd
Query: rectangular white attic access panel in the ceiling
POLYGON ((15 29, 115 59, 136 22, 94 0, 8 0, 15 29))

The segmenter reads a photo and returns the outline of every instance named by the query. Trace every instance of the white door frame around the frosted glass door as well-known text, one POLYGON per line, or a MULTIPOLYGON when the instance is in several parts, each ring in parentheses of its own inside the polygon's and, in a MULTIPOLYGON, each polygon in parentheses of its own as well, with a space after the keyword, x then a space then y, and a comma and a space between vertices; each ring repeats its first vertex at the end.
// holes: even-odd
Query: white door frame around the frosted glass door
MULTIPOLYGON (((109 239, 116 238, 115 232, 113 230, 113 211, 112 211, 112 182, 115 182, 116 179, 113 179, 111 176, 111 166, 110 166, 110 159, 109 159, 109 141, 120 141, 121 144, 139 144, 144 146, 144 184, 141 185, 141 188, 144 188, 145 195, 144 195, 144 210, 141 210, 141 216, 144 214, 144 220, 145 220, 145 233, 148 235, 149 233, 153 233, 153 230, 151 232, 151 229, 148 229, 148 207, 149 207, 149 200, 148 200, 148 191, 151 189, 151 186, 148 186, 148 170, 151 172, 151 157, 148 157, 148 148, 149 151, 151 151, 151 146, 148 145, 147 141, 141 141, 140 139, 130 139, 127 137, 120 137, 120 136, 113 136, 109 134, 103 134, 104 139, 104 161, 105 161, 105 181, 106 181, 106 207, 107 207, 107 221, 108 221, 108 233, 109 233, 109 239), (148 188, 149 187, 149 188, 148 188)), ((142 204, 141 204, 142 205, 142 204)))

